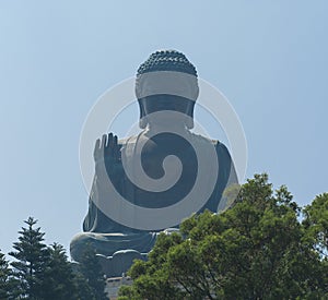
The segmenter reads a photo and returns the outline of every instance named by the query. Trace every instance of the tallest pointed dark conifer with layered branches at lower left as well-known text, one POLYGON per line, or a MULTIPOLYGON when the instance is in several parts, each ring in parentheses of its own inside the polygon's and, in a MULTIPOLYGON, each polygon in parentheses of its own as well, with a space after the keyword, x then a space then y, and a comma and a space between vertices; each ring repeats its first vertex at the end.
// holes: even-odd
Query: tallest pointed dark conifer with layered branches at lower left
POLYGON ((19 231, 19 241, 13 243, 15 251, 9 253, 15 259, 11 263, 13 276, 20 283, 20 298, 45 299, 43 285, 49 261, 49 250, 43 242, 45 233, 39 227, 34 228, 36 219, 30 217, 24 223, 27 228, 19 231))

